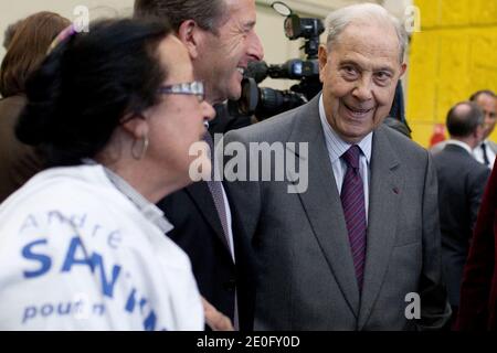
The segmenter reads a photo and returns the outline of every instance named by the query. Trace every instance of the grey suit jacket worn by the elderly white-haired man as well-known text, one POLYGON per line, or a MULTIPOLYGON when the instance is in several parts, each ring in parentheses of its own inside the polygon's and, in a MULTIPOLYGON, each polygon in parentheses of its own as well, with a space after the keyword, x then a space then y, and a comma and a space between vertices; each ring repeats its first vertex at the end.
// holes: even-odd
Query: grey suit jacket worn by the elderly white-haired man
MULTIPOLYGON (((229 132, 224 143, 231 141, 308 142, 305 193, 287 193, 296 182, 288 171, 283 182, 226 183, 244 225, 243 238, 236 240, 250 248, 256 264, 255 330, 414 330, 445 324, 451 312, 441 284, 437 186, 424 149, 388 127, 374 131, 360 293, 318 97, 229 132), (419 320, 405 315, 412 292, 421 297, 419 320)), ((292 146, 286 152, 296 163, 305 158, 292 146)), ((254 168, 257 161, 250 163, 254 168)))

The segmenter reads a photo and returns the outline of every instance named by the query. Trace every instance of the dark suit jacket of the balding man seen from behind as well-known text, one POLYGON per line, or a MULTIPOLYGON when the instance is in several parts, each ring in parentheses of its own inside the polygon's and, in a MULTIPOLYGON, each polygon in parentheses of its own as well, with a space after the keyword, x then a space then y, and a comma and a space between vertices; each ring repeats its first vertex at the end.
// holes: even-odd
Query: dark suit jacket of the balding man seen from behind
POLYGON ((434 154, 433 161, 438 179, 442 268, 448 301, 457 307, 473 226, 490 170, 451 143, 434 154))

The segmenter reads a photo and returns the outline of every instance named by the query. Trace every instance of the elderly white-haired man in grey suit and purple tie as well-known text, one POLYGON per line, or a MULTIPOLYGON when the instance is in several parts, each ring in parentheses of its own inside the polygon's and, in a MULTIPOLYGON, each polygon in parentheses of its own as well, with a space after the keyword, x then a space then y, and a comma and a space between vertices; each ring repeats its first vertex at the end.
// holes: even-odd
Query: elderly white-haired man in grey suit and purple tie
MULTIPOLYGON (((381 125, 405 72, 406 35, 376 4, 337 10, 326 25, 322 93, 224 139, 226 148, 286 147, 284 181, 228 183, 244 224, 236 240, 256 264, 254 329, 440 329, 451 309, 433 164, 381 125), (308 165, 305 190, 292 190, 302 186, 288 167, 296 163, 300 176, 308 165)), ((261 167, 260 157, 240 170, 261 167)))

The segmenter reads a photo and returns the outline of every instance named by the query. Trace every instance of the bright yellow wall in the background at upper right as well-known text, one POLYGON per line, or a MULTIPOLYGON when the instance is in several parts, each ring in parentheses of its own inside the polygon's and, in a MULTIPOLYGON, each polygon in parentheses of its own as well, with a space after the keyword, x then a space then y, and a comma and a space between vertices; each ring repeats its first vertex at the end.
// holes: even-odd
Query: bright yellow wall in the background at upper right
MULTIPOLYGON (((478 89, 497 92, 497 1, 415 0, 421 32, 412 36, 408 121, 427 147, 434 124, 478 89)), ((497 141, 497 129, 490 136, 497 141)))

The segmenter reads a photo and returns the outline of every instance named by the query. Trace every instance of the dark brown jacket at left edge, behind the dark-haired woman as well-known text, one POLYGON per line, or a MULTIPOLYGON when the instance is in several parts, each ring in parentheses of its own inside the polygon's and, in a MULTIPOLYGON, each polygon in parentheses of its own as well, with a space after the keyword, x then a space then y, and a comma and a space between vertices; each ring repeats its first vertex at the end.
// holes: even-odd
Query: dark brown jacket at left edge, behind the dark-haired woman
POLYGON ((42 153, 19 141, 14 135, 14 126, 24 105, 23 96, 0 99, 0 202, 43 165, 42 153))

